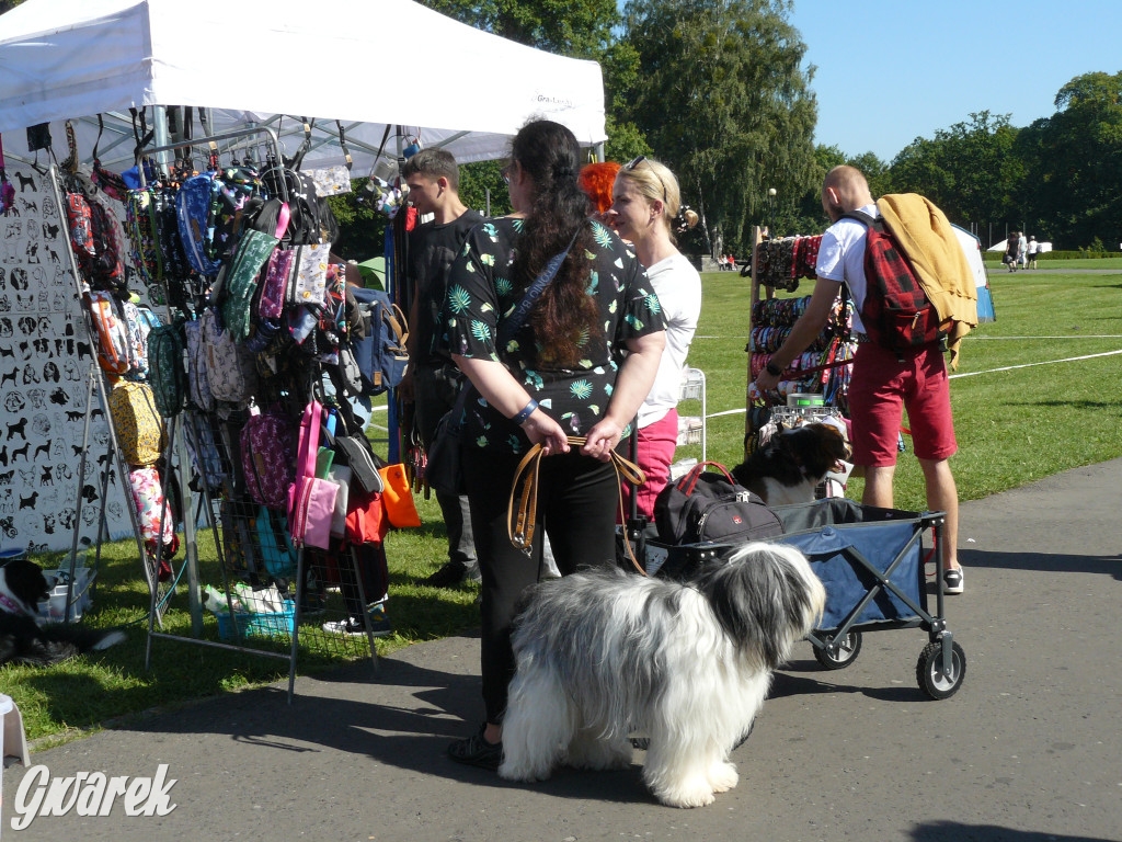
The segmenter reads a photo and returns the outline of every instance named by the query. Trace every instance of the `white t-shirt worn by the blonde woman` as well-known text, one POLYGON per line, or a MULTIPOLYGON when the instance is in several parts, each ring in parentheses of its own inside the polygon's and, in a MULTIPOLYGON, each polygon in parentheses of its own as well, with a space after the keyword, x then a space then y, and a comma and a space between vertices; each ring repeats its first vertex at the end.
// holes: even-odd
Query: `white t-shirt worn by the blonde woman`
POLYGON ((641 428, 653 424, 678 405, 682 368, 693 341, 701 313, 701 276, 680 254, 659 260, 646 269, 666 318, 666 348, 659 360, 651 394, 638 410, 641 428))

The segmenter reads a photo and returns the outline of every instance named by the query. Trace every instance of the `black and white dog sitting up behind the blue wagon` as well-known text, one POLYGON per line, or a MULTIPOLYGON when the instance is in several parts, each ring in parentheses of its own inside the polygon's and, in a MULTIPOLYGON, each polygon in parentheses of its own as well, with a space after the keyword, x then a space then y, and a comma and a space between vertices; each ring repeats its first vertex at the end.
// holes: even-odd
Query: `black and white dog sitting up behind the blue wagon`
POLYGON ((852 455, 838 427, 815 421, 772 436, 730 473, 770 506, 809 503, 827 474, 845 473, 842 463, 852 455))

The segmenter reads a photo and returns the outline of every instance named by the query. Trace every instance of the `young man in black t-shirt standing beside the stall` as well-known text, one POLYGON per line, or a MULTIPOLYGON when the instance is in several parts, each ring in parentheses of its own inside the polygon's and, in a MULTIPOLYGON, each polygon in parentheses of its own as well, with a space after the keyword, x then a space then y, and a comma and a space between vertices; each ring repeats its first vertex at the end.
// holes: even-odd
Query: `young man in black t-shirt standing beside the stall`
MULTIPOLYGON (((408 200, 421 217, 408 241, 407 276, 412 286, 410 306, 410 370, 398 394, 414 404, 414 424, 425 449, 432 443, 436 422, 452 409, 463 375, 452 363, 444 339, 441 313, 448 292, 448 267, 463 240, 482 217, 460 201, 460 171, 444 149, 422 149, 405 162, 402 179, 408 200)), ((424 580, 426 585, 450 587, 466 576, 479 578, 476 548, 471 540, 471 516, 467 496, 436 494, 448 528, 448 562, 424 580)))

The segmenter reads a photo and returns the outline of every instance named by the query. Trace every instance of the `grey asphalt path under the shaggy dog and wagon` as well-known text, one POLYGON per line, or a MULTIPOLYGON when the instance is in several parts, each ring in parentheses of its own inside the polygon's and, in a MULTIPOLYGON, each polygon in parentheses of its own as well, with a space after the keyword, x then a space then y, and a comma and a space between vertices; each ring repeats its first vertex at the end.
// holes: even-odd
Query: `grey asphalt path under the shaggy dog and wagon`
POLYGON ((269 687, 38 753, 56 776, 167 763, 177 806, 13 833, 12 767, 4 839, 1119 840, 1120 488, 1115 460, 965 504, 966 594, 948 601, 962 690, 921 695, 918 630, 866 634, 836 672, 803 644, 734 752, 741 785, 710 807, 660 806, 637 765, 513 786, 447 760, 480 719, 478 641, 461 637, 384 659, 377 679, 369 665, 301 678, 291 707, 269 687))

